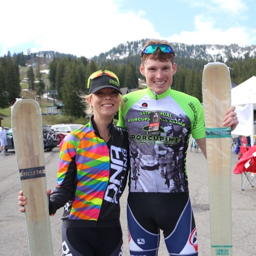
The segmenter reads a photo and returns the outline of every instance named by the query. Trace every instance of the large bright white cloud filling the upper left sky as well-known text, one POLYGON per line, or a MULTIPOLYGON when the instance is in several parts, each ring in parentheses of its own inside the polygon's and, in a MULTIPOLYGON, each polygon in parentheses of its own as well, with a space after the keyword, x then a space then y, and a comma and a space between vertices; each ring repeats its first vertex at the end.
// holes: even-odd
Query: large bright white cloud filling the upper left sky
POLYGON ((91 57, 125 41, 159 37, 143 11, 121 11, 121 1, 45 0, 39 7, 32 0, 5 1, 5 9, 13 2, 15 18, 6 12, 0 16, 0 54, 1 50, 31 43, 32 52, 53 50, 91 57))

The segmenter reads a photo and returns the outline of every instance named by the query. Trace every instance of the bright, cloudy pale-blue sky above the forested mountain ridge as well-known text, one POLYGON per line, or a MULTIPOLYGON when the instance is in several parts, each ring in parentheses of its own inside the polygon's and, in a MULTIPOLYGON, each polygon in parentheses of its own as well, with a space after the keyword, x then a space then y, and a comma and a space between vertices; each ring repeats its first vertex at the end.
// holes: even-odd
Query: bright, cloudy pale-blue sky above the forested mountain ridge
POLYGON ((254 0, 11 0, 0 15, 0 56, 58 51, 90 58, 121 43, 256 45, 254 0))

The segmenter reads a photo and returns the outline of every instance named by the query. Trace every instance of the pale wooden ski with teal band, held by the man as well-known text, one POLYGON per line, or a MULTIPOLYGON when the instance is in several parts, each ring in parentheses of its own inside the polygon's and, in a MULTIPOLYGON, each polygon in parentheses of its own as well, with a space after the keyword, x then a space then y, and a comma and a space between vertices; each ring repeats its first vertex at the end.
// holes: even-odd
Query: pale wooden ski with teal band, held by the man
POLYGON ((211 255, 232 255, 231 129, 222 126, 231 105, 228 67, 221 62, 203 70, 203 107, 209 182, 211 255))

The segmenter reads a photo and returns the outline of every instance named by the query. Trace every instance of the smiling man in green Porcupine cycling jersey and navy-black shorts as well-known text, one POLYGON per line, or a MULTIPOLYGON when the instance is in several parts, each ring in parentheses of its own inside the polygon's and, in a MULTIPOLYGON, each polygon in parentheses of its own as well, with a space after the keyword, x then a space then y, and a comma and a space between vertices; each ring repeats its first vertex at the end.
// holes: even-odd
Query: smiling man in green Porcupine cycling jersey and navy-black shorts
MULTIPOLYGON (((174 57, 169 42, 147 41, 140 65, 147 89, 125 95, 125 105, 119 110, 118 125, 127 128, 130 144, 137 147, 143 162, 143 168, 141 164, 131 167, 127 201, 131 255, 157 255, 160 229, 169 255, 198 255, 186 152, 192 135, 206 156, 204 113, 197 98, 170 89, 177 70, 174 57), (159 124, 151 120, 152 112, 159 115, 159 124), (162 152, 166 163, 160 166, 162 152)), ((223 120, 223 126, 232 130, 238 124, 234 109, 223 120)))

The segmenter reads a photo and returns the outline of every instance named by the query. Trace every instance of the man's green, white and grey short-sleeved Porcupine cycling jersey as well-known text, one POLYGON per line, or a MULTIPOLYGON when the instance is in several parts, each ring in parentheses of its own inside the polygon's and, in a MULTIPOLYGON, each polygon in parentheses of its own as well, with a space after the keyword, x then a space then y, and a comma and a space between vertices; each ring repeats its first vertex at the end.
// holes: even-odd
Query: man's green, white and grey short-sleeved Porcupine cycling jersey
POLYGON ((129 134, 131 192, 186 192, 186 152, 190 134, 205 137, 200 101, 168 89, 156 95, 150 89, 123 96, 118 125, 129 134), (148 131, 152 112, 160 113, 159 134, 148 131))

